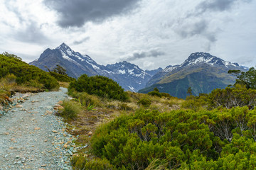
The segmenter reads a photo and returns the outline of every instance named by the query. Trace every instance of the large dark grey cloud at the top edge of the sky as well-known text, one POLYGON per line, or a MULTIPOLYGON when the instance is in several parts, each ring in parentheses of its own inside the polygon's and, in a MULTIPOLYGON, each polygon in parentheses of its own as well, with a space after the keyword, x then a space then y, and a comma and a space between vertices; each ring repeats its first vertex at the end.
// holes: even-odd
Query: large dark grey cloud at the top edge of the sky
POLYGON ((44 0, 49 8, 60 14, 60 27, 81 27, 88 21, 100 23, 105 19, 127 13, 140 0, 44 0))

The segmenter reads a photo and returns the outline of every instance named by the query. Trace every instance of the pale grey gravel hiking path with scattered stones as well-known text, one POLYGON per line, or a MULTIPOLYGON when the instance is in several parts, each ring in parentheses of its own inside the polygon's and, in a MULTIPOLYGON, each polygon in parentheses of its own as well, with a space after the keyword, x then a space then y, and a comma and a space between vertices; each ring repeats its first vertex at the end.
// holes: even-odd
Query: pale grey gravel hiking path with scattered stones
POLYGON ((68 98, 66 92, 30 94, 0 118, 0 170, 71 169, 69 159, 78 148, 62 118, 53 114, 53 106, 68 98))

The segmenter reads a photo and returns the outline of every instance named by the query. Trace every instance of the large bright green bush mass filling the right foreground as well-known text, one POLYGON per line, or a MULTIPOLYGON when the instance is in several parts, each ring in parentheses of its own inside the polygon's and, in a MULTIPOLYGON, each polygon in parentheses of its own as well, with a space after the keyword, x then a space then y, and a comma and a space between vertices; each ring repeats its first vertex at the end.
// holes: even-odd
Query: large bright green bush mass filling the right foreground
POLYGON ((98 128, 92 152, 117 169, 255 169, 256 111, 138 111, 98 128))

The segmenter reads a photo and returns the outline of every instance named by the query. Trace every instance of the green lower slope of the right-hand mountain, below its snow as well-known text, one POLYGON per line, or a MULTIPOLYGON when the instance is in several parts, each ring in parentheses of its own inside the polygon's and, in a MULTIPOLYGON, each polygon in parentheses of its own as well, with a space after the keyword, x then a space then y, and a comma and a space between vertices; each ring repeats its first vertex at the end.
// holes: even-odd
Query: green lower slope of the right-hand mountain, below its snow
POLYGON ((228 74, 228 69, 210 67, 208 64, 186 67, 178 72, 166 74, 156 84, 153 84, 139 93, 148 93, 157 87, 159 91, 186 98, 186 91, 191 87, 193 95, 208 94, 213 89, 224 89, 229 84, 234 84, 235 77, 228 74))

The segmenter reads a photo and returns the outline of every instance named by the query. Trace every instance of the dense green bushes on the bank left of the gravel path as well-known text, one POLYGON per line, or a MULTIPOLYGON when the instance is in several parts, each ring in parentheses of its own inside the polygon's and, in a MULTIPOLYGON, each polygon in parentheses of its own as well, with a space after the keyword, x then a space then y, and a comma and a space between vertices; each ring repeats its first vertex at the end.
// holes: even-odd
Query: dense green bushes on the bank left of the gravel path
POLYGON ((58 89, 59 87, 58 81, 51 77, 50 74, 38 67, 22 62, 18 57, 0 55, 0 63, 0 78, 14 74, 17 84, 26 83, 28 86, 43 84, 44 89, 58 89))

